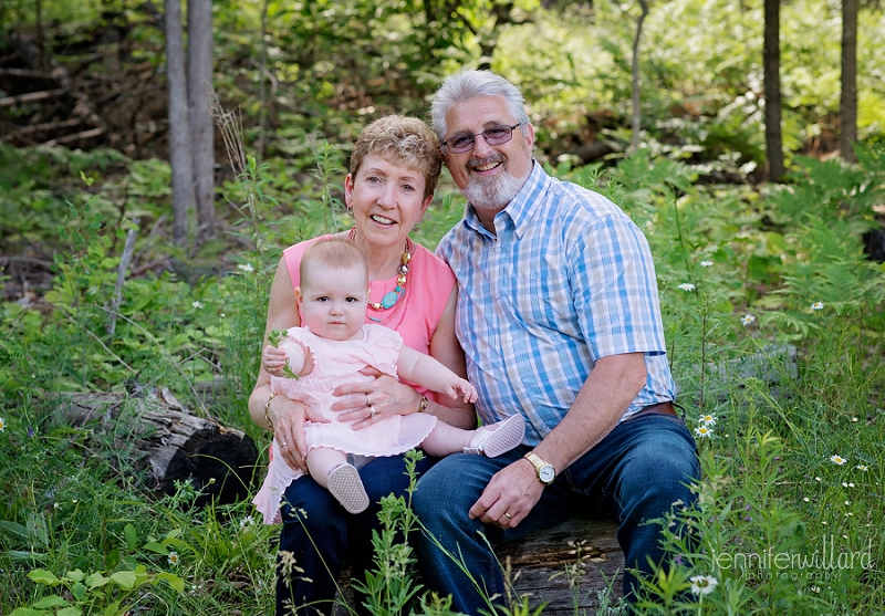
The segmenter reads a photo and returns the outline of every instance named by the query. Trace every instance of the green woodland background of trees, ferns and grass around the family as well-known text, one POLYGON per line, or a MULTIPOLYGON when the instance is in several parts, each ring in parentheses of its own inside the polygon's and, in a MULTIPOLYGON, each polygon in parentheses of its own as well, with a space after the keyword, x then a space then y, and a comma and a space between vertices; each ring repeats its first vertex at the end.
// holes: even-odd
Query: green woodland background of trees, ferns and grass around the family
MULTIPOLYGON (((158 489, 138 400, 263 456, 246 399, 280 249, 347 226, 360 129, 427 118, 461 66, 520 85, 539 161, 649 238, 705 471, 704 544, 649 596, 671 609, 702 574, 700 612, 878 613, 882 41, 878 0, 0 0, 0 615, 269 609, 263 462, 158 489), (72 422, 92 395, 101 417, 72 422), (824 537, 871 566, 759 582, 710 560, 824 537)), ((444 174, 416 239, 462 206, 444 174)), ((446 613, 423 596, 373 613, 446 613)))

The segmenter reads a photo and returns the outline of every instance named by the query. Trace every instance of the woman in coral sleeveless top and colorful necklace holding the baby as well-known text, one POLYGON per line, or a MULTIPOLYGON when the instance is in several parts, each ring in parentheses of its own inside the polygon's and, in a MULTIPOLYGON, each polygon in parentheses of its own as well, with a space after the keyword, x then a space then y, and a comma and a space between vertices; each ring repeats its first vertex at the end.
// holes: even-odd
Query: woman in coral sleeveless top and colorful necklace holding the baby
MULTIPOLYGON (((430 205, 440 169, 439 143, 424 122, 388 116, 369 124, 356 142, 351 173, 344 180, 344 199, 354 227, 337 237, 354 242, 368 263, 366 322, 396 330, 406 345, 464 377, 464 352, 455 337, 455 276, 448 265, 408 238, 430 205)), ((299 264, 319 239, 283 251, 271 288, 267 332, 301 324, 294 297, 299 264)), ((284 364, 284 357, 274 351, 266 341, 249 411, 256 424, 273 431, 285 461, 306 473, 303 425, 314 418, 305 405, 271 393, 270 373, 280 373, 284 364)), ((341 400, 333 410, 341 411, 343 420, 358 420, 356 429, 389 415, 412 413, 429 413, 460 428, 476 427, 469 405, 438 400, 433 393, 389 376, 341 386, 335 395, 341 400)), ((404 493, 408 482, 404 471, 402 456, 378 458, 363 467, 361 478, 373 504, 357 515, 348 514, 309 474, 289 487, 283 497, 280 552, 291 553, 294 567, 278 572, 278 615, 291 614, 293 608, 298 614, 330 613, 345 556, 353 576, 365 580, 364 572, 372 565, 377 502, 391 492, 404 493)), ((291 563, 289 555, 278 561, 291 563)))

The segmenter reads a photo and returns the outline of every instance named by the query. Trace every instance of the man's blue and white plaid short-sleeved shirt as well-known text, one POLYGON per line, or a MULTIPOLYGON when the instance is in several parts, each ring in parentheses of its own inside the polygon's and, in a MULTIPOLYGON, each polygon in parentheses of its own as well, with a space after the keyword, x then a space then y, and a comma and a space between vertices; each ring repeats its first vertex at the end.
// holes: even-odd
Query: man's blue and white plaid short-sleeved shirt
POLYGON ((468 205, 437 248, 458 280, 456 333, 483 421, 522 411, 535 446, 596 361, 622 353, 645 353, 648 374, 622 421, 674 398, 652 253, 621 208, 534 163, 494 228, 468 205))

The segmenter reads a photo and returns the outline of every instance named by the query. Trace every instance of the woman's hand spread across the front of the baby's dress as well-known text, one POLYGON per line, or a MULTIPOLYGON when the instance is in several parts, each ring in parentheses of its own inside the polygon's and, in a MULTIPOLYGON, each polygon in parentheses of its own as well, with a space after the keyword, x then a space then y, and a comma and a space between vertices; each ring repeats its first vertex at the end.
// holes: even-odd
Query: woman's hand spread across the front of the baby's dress
POLYGON ((374 376, 375 380, 340 385, 332 391, 342 399, 331 409, 341 413, 342 421, 355 421, 354 430, 367 428, 385 417, 410 415, 420 408, 421 395, 396 377, 371 367, 361 372, 374 376))

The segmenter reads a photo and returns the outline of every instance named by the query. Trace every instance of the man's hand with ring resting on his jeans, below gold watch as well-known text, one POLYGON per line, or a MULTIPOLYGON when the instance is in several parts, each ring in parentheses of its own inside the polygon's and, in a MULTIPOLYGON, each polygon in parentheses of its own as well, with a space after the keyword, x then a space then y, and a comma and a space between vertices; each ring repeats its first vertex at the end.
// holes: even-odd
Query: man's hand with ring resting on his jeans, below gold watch
POLYGON ((470 518, 502 529, 516 528, 538 504, 544 484, 529 460, 517 460, 494 473, 470 508, 470 518))

